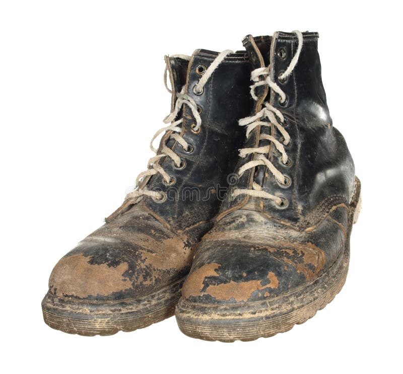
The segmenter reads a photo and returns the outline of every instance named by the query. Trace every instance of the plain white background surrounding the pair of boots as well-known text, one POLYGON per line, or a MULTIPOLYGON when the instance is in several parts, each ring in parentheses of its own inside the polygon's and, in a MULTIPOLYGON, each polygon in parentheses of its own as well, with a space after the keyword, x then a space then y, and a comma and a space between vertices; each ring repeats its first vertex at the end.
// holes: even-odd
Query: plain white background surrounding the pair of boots
POLYGON ((0 1, 3 372, 401 372, 398 2, 0 1), (246 34, 318 31, 323 82, 363 185, 347 283, 290 332, 188 338, 175 319, 86 338, 46 326, 57 260, 146 168, 169 113, 164 54, 241 49, 246 34), (257 371, 256 371, 257 372, 257 371))

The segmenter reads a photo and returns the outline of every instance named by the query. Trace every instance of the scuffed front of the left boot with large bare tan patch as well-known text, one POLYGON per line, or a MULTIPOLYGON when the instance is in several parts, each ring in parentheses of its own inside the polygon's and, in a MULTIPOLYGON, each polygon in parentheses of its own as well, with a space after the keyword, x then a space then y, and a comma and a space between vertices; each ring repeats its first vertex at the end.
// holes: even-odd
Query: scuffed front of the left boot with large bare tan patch
POLYGON ((190 269, 186 237, 142 211, 122 216, 85 238, 54 267, 49 292, 86 301, 116 301, 157 292, 190 269))

